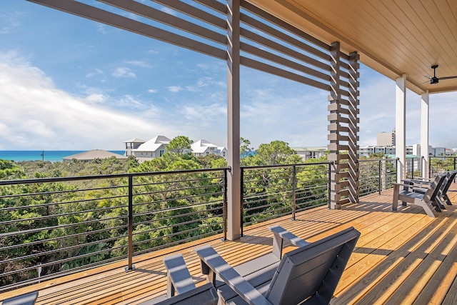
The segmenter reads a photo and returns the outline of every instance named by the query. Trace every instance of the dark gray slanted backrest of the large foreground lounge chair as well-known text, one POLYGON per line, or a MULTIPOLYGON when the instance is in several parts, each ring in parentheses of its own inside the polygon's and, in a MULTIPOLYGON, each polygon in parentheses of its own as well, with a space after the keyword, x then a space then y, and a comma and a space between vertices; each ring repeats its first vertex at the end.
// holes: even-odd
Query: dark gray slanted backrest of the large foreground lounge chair
POLYGON ((328 304, 358 236, 359 231, 349 228, 284 254, 266 293, 268 301, 328 304))

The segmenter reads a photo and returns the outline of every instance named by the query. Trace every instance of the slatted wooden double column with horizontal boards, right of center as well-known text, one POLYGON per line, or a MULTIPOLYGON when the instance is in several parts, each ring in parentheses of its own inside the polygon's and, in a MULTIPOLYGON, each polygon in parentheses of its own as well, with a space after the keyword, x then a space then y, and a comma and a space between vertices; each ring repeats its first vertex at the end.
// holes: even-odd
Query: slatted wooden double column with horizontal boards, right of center
POLYGON ((349 56, 348 98, 341 96, 340 45, 331 45, 331 94, 328 96, 328 160, 332 162, 330 208, 358 202, 358 54, 349 56))

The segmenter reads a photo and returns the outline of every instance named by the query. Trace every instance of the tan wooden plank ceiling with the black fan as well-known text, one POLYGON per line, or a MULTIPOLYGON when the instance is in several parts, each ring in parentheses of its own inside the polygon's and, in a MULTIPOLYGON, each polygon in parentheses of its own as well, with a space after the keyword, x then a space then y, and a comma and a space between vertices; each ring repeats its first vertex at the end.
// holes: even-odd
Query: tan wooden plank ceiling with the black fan
POLYGON ((407 74, 417 94, 457 91, 456 0, 248 0, 391 79, 407 74))

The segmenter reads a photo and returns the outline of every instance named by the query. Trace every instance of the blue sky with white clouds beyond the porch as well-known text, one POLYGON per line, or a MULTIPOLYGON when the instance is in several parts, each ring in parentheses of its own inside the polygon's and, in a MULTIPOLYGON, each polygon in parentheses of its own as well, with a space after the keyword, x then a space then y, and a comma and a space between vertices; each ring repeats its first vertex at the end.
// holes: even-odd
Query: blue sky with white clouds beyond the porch
MULTIPOLYGON (((360 145, 395 126, 395 82, 361 65, 360 145)), ((241 68, 241 136, 326 146, 328 93, 241 68)), ((431 94, 430 144, 457 147, 443 120, 457 94, 431 94)), ((407 92, 406 143, 420 141, 407 92)), ((124 149, 184 135, 226 146, 226 64, 25 0, 0 1, 0 149, 124 149)))

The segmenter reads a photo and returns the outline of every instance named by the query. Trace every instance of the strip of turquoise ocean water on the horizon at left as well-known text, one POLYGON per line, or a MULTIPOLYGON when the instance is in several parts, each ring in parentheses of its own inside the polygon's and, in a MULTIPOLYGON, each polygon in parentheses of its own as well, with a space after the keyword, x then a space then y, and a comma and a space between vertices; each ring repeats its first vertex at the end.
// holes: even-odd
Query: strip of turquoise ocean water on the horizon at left
MULTIPOLYGON (((11 161, 64 161, 64 157, 79 154, 83 151, 0 151, 0 159, 11 161)), ((125 151, 111 151, 123 155, 125 151)))

